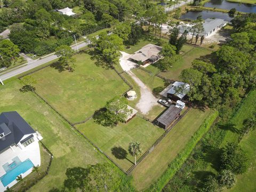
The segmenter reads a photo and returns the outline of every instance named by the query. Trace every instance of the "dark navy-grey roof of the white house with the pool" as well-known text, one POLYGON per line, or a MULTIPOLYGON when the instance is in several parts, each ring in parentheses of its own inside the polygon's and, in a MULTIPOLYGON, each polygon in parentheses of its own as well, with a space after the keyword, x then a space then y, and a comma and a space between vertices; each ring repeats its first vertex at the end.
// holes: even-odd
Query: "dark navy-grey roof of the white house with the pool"
POLYGON ((17 113, 17 111, 0 114, 0 125, 1 130, 6 129, 7 127, 10 132, 0 139, 0 151, 10 147, 14 143, 17 145, 24 135, 35 133, 32 127, 17 113))

